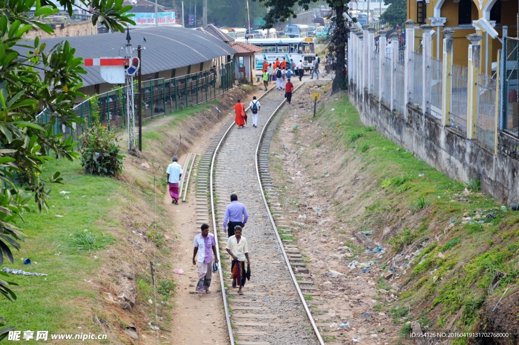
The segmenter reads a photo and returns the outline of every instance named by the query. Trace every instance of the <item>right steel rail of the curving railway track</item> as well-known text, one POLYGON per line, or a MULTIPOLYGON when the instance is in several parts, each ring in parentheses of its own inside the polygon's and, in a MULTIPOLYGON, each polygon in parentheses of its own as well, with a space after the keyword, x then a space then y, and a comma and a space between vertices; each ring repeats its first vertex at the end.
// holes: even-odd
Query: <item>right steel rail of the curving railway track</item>
MULTIPOLYGON (((305 81, 303 81, 301 84, 299 84, 294 89, 294 91, 296 91, 300 86, 305 84, 305 81)), ((290 275, 292 277, 292 280, 294 281, 294 285, 295 285, 295 287, 297 289, 297 293, 299 294, 299 298, 301 298, 301 302, 303 303, 303 306, 305 307, 305 311, 306 311, 306 314, 308 316, 308 319, 310 320, 310 323, 312 324, 313 332, 315 332, 317 338, 319 339, 320 345, 324 345, 324 340, 322 339, 321 334, 319 333, 319 329, 317 328, 317 325, 316 325, 315 321, 313 321, 312 313, 310 312, 310 309, 308 308, 308 305, 306 304, 305 296, 303 295, 303 292, 301 291, 301 288, 299 287, 299 283, 297 283, 297 278, 295 277, 294 270, 292 269, 292 266, 290 265, 289 257, 286 255, 286 252, 285 252, 285 249, 284 249, 284 246, 283 246, 283 241, 281 241, 281 237, 279 236, 279 231, 278 231, 278 228, 276 227, 276 222, 274 222, 274 218, 272 217, 272 213, 270 212, 270 208, 269 208, 268 203, 267 203, 267 198, 265 197, 265 191, 263 190, 263 184, 261 182, 260 168, 258 167, 258 151, 260 150, 260 147, 261 147, 261 144, 262 144, 263 135, 265 134, 265 131, 266 131, 270 121, 274 118, 274 116, 276 116, 276 113, 284 105, 285 100, 286 99, 284 99, 283 103, 281 103, 276 108, 274 113, 272 113, 272 115, 270 115, 270 117, 268 118, 267 122, 265 123, 265 126, 263 127, 263 129, 262 129, 262 131, 260 133, 260 139, 258 140, 258 145, 256 146, 256 159, 255 159, 256 176, 258 178, 258 183, 260 184, 261 195, 262 195, 262 198, 263 198, 263 202, 265 203, 265 208, 267 209, 267 213, 268 213, 268 217, 270 219, 270 223, 272 224, 272 227, 274 227, 274 230, 276 230, 275 231, 276 232, 276 238, 278 239, 278 243, 279 243, 279 245, 281 247, 281 252, 283 253, 283 257, 285 258, 286 266, 288 266, 288 268, 289 268, 290 275)))

